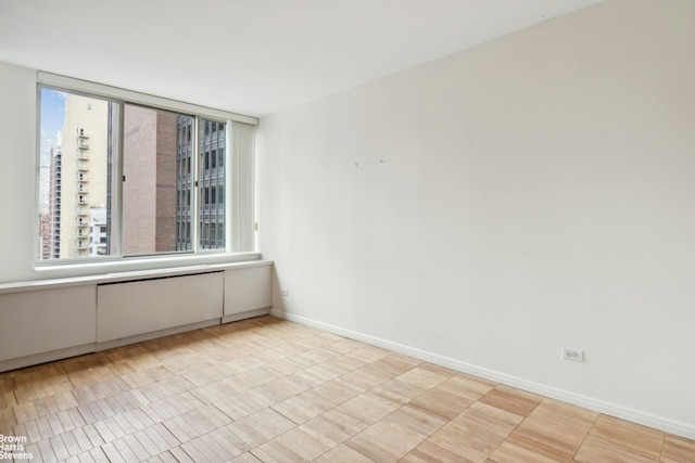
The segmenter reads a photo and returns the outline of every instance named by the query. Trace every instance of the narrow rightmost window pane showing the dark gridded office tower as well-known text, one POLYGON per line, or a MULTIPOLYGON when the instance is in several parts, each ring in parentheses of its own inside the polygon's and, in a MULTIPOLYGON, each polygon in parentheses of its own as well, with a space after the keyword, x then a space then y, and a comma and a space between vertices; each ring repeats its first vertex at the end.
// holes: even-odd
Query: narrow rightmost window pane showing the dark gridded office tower
POLYGON ((226 247, 224 153, 227 124, 201 119, 200 127, 200 247, 219 249, 226 247))

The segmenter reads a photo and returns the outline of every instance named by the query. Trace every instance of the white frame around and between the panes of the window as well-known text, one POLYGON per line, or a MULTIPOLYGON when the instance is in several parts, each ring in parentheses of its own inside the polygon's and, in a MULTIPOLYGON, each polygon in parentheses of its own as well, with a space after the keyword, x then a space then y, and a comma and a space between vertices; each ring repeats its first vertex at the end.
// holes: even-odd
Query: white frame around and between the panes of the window
MULTIPOLYGON (((117 137, 117 147, 115 153, 115 163, 113 168, 115 168, 115 176, 118 176, 119 179, 115 185, 115 200, 112 206, 114 223, 112 226, 112 234, 113 234, 113 253, 109 256, 93 256, 93 257, 83 257, 83 258, 59 258, 59 259, 41 259, 40 249, 37 249, 35 253, 35 270, 49 270, 51 268, 106 268, 110 269, 114 266, 118 266, 118 263, 123 263, 124 261, 128 262, 150 262, 154 263, 155 267, 168 266, 168 265, 177 265, 184 263, 187 265, 189 261, 198 261, 203 258, 203 260, 212 261, 210 258, 214 258, 214 260, 218 260, 218 256, 223 257, 231 257, 236 256, 239 260, 244 259, 245 256, 255 255, 255 258, 260 257, 257 249, 241 250, 233 249, 233 243, 236 239, 235 228, 231 226, 233 221, 236 221, 236 217, 233 216, 232 209, 232 195, 238 192, 241 185, 235 185, 235 177, 231 175, 230 166, 233 165, 233 146, 231 143, 232 132, 235 130, 233 124, 241 124, 244 126, 256 126, 258 124, 258 119, 251 116, 244 116, 237 113, 230 113, 222 110, 215 110, 206 106, 195 105, 191 103, 185 103, 176 100, 165 99, 162 97, 155 97, 147 93, 140 93, 131 90, 125 90, 121 88, 110 87, 102 83, 96 83, 91 81, 75 79, 72 77, 54 75, 45 72, 38 72, 37 74, 37 150, 36 156, 37 160, 40 159, 40 127, 41 127, 41 89, 52 89, 58 91, 67 91, 75 94, 80 94, 85 97, 97 98, 101 100, 111 101, 113 103, 117 103, 119 105, 119 114, 118 114, 118 132, 115 134, 117 137), (193 146, 193 156, 191 157, 192 165, 190 166, 191 172, 194 172, 193 183, 194 187, 190 191, 190 202, 191 206, 194 207, 192 210, 192 217, 195 226, 191 227, 190 230, 190 239, 192 248, 191 250, 177 250, 177 252, 162 252, 162 253, 153 253, 153 254, 136 254, 136 255, 124 255, 123 253, 123 226, 124 226, 124 210, 123 210, 123 175, 124 175, 124 117, 125 117, 125 105, 126 104, 135 104, 144 107, 149 107, 152 110, 163 110, 170 111, 179 114, 188 114, 194 117, 193 127, 191 129, 192 136, 192 146, 193 146), (225 139, 225 153, 224 155, 229 156, 229 158, 225 159, 224 168, 225 168, 225 246, 223 248, 216 249, 205 249, 201 245, 200 235, 201 235, 201 219, 200 214, 202 211, 202 205, 200 203, 200 187, 199 182, 202 180, 200 177, 200 166, 198 165, 199 154, 199 124, 202 120, 207 121, 217 121, 224 123, 226 126, 226 139, 225 139)), ((255 138, 255 136, 254 136, 255 138)), ((255 149, 251 150, 251 158, 253 159, 255 153, 255 149)), ((253 162, 253 160, 252 160, 253 162)), ((40 165, 40 163, 37 163, 40 165)), ((253 175, 253 172, 251 172, 253 175)), ((37 189, 37 201, 35 202, 37 222, 40 222, 39 215, 39 201, 38 201, 38 191, 40 190, 40 169, 37 167, 36 172, 36 189, 37 189)), ((253 178, 251 179, 252 183, 253 178)), ((127 179, 126 179, 127 181, 127 179)), ((250 194, 253 198, 255 196, 255 187, 251 185, 251 190, 248 192, 242 192, 242 194, 250 194)), ((252 200, 251 207, 255 208, 253 205, 254 202, 252 200)), ((251 227, 255 228, 255 218, 251 227)), ((245 221, 249 221, 249 218, 245 218, 245 221)), ((40 223, 39 223, 40 226, 40 223)), ((36 240, 38 240, 38 234, 36 240)), ((38 243, 38 242, 37 242, 38 243)), ((38 248, 38 246, 36 246, 38 248)), ((235 258, 233 260, 237 260, 235 258)))

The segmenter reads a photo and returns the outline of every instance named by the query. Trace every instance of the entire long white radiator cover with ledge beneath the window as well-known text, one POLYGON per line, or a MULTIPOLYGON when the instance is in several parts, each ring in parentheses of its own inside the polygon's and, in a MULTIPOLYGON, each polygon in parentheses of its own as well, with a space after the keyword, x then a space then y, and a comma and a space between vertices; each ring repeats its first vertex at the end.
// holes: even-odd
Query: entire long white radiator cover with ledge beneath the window
POLYGON ((0 372, 270 311, 273 262, 0 283, 0 372))

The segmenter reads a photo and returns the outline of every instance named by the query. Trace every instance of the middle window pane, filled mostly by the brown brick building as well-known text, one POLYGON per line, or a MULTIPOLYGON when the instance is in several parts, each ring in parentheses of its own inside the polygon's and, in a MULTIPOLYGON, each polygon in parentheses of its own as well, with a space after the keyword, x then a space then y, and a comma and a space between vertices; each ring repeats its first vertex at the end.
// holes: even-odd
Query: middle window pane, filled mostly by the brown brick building
POLYGON ((180 223, 190 221, 182 198, 193 181, 188 170, 194 118, 169 111, 125 105, 123 253, 190 250, 180 223))

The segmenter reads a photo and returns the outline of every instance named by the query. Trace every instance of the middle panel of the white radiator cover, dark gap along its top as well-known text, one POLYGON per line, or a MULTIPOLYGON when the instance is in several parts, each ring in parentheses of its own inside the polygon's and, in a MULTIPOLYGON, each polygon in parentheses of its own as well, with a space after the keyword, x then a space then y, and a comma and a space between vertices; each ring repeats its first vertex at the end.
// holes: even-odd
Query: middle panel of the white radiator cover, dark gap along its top
POLYGON ((101 284, 97 288, 97 343, 220 319, 222 271, 101 284))

